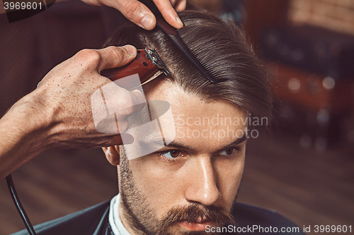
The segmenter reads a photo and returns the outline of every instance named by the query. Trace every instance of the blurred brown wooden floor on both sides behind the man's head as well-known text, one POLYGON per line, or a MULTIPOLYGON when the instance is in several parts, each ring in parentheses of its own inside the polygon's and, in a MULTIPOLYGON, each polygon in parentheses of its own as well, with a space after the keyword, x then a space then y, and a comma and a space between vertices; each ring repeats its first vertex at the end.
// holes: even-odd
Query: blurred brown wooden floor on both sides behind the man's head
MULTIPOLYGON (((319 234, 316 224, 353 229, 353 169, 350 150, 319 153, 273 133, 249 143, 239 201, 276 210, 301 228, 311 226, 307 234, 319 234)), ((117 193, 116 178, 99 149, 44 152, 13 173, 33 224, 110 200, 117 193)), ((6 181, 0 181, 0 234, 23 228, 6 181)))

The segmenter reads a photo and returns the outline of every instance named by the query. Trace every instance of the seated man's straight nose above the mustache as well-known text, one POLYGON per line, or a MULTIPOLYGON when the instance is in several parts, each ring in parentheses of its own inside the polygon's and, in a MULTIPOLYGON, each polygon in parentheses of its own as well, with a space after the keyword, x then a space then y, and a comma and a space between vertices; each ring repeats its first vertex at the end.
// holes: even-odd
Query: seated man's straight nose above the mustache
POLYGON ((221 197, 216 171, 210 158, 195 159, 185 180, 185 199, 202 205, 212 205, 221 197))

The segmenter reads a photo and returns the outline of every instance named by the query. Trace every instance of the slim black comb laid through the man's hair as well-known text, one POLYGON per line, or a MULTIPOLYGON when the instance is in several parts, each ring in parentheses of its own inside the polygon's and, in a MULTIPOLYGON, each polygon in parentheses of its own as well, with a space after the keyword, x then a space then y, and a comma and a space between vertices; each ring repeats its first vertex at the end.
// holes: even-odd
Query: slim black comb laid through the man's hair
POLYGON ((197 68, 198 71, 200 71, 200 73, 202 73, 203 76, 209 79, 210 82, 212 83, 219 83, 224 81, 224 79, 215 78, 215 76, 213 76, 212 73, 207 71, 207 68, 205 68, 205 66, 202 66, 200 61, 198 61, 198 59, 196 59, 195 56, 190 52, 188 47, 186 47, 183 40, 181 40, 181 37, 178 36, 176 29, 173 28, 171 25, 169 25, 169 23, 167 23, 166 20, 164 20, 164 17, 162 17, 159 9, 155 6, 152 0, 139 0, 139 1, 142 2, 142 4, 144 4, 145 6, 147 6, 150 9, 150 11, 152 11, 152 13, 154 13, 156 17, 156 26, 160 30, 162 30, 167 35, 167 37, 171 39, 171 41, 173 42, 173 44, 175 44, 178 50, 183 53, 183 55, 188 59, 188 61, 190 61, 190 63, 192 63, 193 66, 195 66, 195 68, 197 68))

